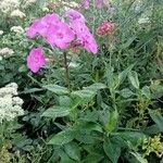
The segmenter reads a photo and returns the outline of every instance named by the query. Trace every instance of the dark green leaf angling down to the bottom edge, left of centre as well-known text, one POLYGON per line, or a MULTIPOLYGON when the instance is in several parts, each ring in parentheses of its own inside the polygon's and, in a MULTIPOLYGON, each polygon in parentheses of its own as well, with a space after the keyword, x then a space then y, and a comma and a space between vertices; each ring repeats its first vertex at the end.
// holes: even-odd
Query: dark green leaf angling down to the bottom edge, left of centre
POLYGON ((80 161, 80 151, 76 142, 66 143, 64 150, 71 159, 80 161))

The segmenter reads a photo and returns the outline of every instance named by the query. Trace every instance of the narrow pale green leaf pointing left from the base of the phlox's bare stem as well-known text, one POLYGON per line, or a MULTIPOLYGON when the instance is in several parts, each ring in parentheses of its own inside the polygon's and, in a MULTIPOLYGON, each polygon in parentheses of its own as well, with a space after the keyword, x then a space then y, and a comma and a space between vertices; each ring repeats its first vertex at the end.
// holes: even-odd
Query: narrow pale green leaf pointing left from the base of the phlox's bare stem
POLYGON ((68 93, 68 89, 65 87, 61 87, 58 85, 46 85, 42 86, 43 88, 57 93, 57 95, 67 95, 68 93))

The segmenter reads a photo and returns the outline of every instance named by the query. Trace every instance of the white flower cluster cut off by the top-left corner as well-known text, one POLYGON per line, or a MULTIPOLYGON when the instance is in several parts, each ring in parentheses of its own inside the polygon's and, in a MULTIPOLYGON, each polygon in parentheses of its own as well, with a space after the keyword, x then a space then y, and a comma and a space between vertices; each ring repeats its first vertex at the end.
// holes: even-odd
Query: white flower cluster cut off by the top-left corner
POLYGON ((20 7, 18 0, 0 0, 0 11, 9 13, 20 7))

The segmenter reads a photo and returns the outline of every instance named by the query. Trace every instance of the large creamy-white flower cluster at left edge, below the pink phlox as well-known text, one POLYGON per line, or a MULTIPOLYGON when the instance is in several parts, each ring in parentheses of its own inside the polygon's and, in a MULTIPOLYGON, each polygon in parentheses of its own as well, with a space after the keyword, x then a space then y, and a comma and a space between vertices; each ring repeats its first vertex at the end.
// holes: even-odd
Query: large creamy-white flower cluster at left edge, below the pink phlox
POLYGON ((0 123, 23 115, 22 104, 23 100, 17 97, 17 84, 11 83, 0 88, 0 123))

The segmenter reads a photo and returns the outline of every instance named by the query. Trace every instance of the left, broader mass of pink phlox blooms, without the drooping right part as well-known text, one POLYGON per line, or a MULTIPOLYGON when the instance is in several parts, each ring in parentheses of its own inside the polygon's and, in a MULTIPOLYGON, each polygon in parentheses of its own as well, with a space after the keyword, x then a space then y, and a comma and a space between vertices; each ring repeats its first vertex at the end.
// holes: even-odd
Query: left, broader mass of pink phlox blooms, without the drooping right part
POLYGON ((73 30, 54 13, 36 20, 27 29, 26 34, 30 38, 34 38, 38 34, 42 36, 48 43, 60 49, 66 49, 70 42, 75 39, 73 30))

